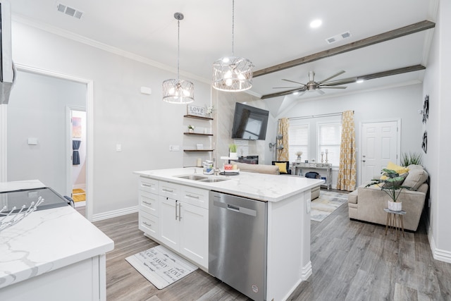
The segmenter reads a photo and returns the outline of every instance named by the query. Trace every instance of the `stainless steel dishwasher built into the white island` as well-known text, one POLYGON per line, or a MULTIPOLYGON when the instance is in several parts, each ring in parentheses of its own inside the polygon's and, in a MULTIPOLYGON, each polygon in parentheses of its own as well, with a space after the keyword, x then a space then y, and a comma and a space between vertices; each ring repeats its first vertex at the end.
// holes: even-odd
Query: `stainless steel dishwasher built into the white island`
POLYGON ((211 191, 209 273, 253 300, 266 300, 268 203, 211 191))

